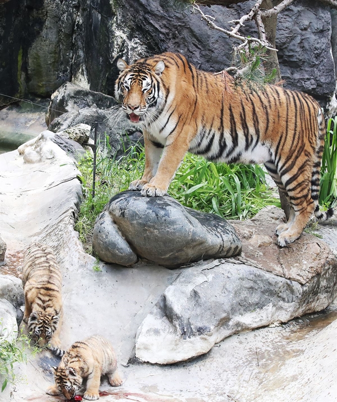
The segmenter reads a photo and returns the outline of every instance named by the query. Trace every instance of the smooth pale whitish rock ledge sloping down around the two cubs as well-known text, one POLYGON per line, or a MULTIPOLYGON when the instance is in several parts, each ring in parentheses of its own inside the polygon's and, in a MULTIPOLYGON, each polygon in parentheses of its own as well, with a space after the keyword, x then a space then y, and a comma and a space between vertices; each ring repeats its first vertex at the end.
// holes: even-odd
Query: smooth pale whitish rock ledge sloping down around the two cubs
MULTIPOLYGON (((101 263, 102 271, 95 272, 95 258, 84 253, 73 229, 81 198, 78 171, 63 151, 52 151, 52 159, 33 164, 25 163, 17 151, 0 155, 0 232, 7 244, 4 267, 19 268, 33 240, 53 248, 63 276, 62 347, 98 333, 110 339, 116 350, 124 383, 112 388, 102 380, 100 390, 105 394, 100 400, 336 401, 334 304, 325 313, 233 335, 192 361, 127 365, 138 327, 183 269, 171 271, 141 261, 131 268, 101 263)), ((7 387, 0 401, 63 401, 45 394, 53 381, 50 366, 57 362, 49 351, 29 357, 27 365, 16 367, 27 382, 16 384, 15 390, 7 387)))

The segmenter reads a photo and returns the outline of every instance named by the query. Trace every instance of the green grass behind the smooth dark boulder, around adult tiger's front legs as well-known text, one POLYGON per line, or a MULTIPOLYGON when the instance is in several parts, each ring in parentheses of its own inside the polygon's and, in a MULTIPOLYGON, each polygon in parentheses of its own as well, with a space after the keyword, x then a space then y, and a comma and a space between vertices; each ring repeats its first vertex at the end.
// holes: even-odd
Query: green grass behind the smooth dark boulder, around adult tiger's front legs
MULTIPOLYGON (((97 215, 113 195, 127 190, 132 180, 140 178, 144 169, 143 148, 130 148, 118 161, 108 154, 97 153, 94 198, 93 157, 87 153, 78 166, 84 201, 75 230, 89 253, 97 215)), ((215 164, 192 154, 185 156, 169 186, 169 195, 182 205, 231 219, 251 218, 267 205, 281 206, 276 194, 268 187, 260 166, 215 164)))

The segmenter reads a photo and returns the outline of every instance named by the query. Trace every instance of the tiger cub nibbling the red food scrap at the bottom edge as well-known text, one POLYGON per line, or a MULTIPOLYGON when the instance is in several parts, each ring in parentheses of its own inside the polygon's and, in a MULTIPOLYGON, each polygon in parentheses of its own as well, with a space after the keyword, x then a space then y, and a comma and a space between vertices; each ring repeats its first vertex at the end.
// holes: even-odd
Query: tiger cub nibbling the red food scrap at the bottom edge
POLYGON ((87 378, 87 387, 83 398, 89 401, 100 398, 101 376, 107 374, 113 387, 122 384, 112 345, 99 335, 75 342, 64 353, 58 367, 53 369, 55 384, 46 392, 48 395, 63 394, 66 399, 81 393, 84 378, 87 378))

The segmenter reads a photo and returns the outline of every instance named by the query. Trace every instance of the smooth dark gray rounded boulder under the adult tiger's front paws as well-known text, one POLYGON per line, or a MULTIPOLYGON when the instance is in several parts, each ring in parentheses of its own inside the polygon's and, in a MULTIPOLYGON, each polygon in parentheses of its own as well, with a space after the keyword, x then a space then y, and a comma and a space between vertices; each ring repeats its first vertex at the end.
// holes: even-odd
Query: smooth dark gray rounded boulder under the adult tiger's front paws
POLYGON ((133 255, 173 268, 237 255, 241 242, 232 226, 214 214, 183 207, 169 196, 143 197, 139 191, 125 191, 115 195, 97 219, 93 249, 104 261, 109 255, 107 262, 129 265, 123 260, 132 261, 133 251, 133 255), (121 243, 127 257, 120 256, 121 243))

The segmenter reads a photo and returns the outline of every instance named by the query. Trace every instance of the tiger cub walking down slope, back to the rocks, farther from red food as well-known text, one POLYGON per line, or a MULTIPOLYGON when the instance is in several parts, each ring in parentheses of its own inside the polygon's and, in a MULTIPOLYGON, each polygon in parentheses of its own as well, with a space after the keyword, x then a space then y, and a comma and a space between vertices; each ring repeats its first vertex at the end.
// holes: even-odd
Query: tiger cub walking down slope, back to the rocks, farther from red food
POLYGON ((25 294, 23 320, 40 347, 47 347, 62 356, 58 338, 63 308, 62 277, 55 255, 49 246, 33 243, 24 256, 22 284, 25 294))

